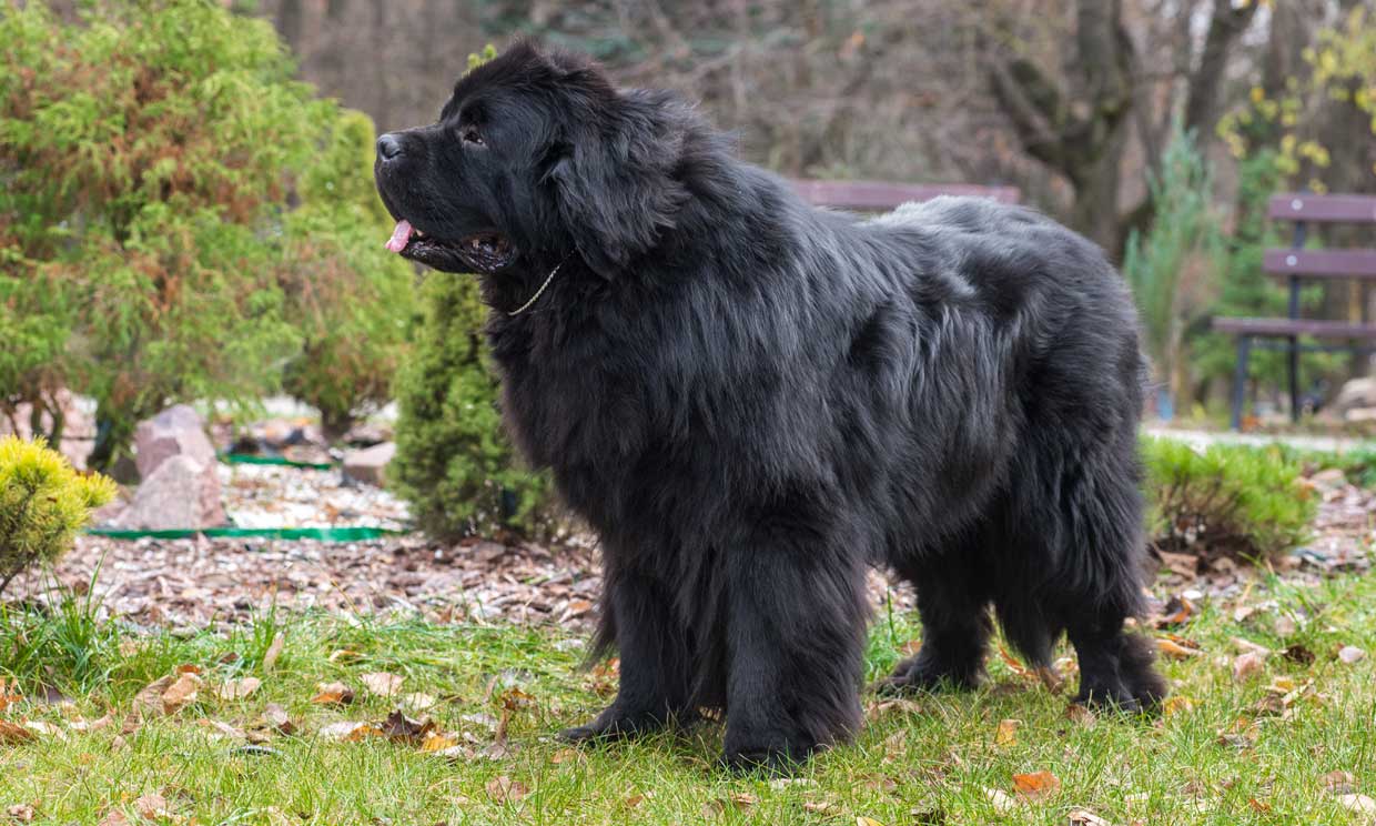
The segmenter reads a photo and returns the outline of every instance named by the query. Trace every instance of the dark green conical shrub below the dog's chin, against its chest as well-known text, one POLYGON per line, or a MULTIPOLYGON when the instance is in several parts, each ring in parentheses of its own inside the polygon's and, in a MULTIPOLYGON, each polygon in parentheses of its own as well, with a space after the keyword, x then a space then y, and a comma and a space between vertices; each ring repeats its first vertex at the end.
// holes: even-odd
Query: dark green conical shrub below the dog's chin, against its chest
POLYGON ((388 480, 428 534, 453 540, 548 526, 549 479, 516 465, 502 438, 497 380, 482 341, 486 307, 465 275, 431 273, 424 319, 396 384, 388 480))

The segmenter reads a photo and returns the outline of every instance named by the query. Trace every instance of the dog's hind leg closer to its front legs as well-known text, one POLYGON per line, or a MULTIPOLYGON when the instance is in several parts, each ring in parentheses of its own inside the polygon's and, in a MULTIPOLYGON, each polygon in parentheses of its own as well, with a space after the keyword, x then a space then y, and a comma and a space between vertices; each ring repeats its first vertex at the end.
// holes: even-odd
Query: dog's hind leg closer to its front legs
POLYGON ((879 683, 881 692, 973 688, 980 684, 991 624, 989 597, 978 566, 974 541, 897 566, 899 574, 918 589, 922 647, 879 683))

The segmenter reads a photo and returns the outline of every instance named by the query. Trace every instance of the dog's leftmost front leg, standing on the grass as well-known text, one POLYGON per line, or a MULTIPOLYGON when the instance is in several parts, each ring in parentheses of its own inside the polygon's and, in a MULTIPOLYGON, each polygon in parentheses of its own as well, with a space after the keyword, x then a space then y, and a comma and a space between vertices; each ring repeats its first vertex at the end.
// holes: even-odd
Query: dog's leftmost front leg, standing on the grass
POLYGON ((586 726, 560 732, 566 741, 616 739, 663 728, 691 716, 691 655, 673 600, 656 581, 608 570, 603 628, 596 651, 621 655, 616 699, 586 726))

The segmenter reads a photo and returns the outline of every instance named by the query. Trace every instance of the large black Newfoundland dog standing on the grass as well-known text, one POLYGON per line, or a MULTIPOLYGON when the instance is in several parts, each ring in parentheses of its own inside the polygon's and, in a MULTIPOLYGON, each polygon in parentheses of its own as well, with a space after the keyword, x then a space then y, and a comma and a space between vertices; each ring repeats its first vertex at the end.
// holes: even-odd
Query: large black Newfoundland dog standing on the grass
POLYGON ((738 160, 680 98, 515 44, 383 135, 388 248, 476 273, 504 412, 601 534, 621 688, 567 738, 725 710, 784 765, 860 724, 866 569, 918 591, 888 691, 982 675, 989 608, 1080 701, 1164 694, 1141 607, 1143 363, 1123 281, 1026 209, 864 220, 738 160))

